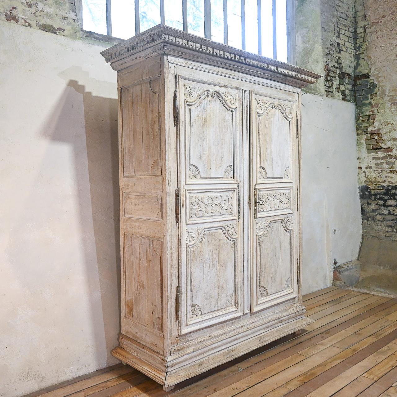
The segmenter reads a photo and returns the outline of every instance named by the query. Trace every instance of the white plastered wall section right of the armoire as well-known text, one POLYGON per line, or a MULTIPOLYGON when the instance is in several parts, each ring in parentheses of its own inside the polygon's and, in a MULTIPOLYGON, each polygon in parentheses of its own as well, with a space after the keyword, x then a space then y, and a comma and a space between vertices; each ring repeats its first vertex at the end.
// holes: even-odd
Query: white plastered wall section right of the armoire
POLYGON ((361 210, 355 104, 302 96, 302 292, 332 284, 333 260, 357 259, 361 210), (335 232, 334 232, 335 229, 335 232))

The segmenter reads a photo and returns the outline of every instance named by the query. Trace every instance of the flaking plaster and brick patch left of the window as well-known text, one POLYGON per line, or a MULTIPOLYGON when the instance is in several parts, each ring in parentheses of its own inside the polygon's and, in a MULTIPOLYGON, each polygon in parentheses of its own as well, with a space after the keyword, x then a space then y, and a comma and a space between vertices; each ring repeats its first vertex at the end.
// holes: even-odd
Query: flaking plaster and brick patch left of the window
POLYGON ((1 0, 0 21, 80 38, 75 0, 1 0))

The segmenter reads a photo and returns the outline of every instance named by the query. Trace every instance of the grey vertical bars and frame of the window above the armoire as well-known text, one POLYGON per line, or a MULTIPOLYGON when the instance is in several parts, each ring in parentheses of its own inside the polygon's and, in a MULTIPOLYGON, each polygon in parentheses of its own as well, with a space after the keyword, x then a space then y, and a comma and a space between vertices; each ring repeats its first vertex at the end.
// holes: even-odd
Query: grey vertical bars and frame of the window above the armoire
MULTIPOLYGON (((241 48, 246 48, 245 37, 245 0, 241 1, 241 48)), ((273 58, 277 59, 277 20, 276 20, 276 0, 272 1, 272 24, 273 24, 273 58)), ((296 0, 285 0, 287 2, 287 61, 290 64, 296 64, 296 27, 295 27, 295 10, 296 0)), ((160 2, 160 23, 165 24, 165 6, 164 0, 160 2)), ((204 37, 211 39, 211 0, 202 0, 204 6, 204 37)), ((187 0, 181 1, 182 5, 182 19, 183 31, 187 32, 187 0)), ((139 19, 139 0, 134 0, 135 7, 135 35, 140 33, 140 19, 139 19)), ((258 7, 258 54, 262 54, 262 0, 257 0, 258 7)), ((81 29, 81 36, 87 39, 99 40, 112 44, 123 42, 123 39, 112 36, 112 0, 106 0, 106 35, 100 33, 90 32, 83 29, 83 0, 76 0, 76 13, 79 19, 79 26, 81 29)), ((223 0, 223 14, 224 14, 224 43, 228 44, 227 35, 227 0, 223 0)))

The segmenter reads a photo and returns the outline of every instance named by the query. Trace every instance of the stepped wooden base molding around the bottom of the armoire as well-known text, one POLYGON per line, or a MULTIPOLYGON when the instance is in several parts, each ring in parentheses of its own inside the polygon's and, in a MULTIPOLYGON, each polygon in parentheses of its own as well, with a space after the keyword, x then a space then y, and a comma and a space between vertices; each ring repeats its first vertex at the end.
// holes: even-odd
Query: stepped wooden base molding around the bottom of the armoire
POLYGON ((233 345, 225 345, 223 349, 206 352, 202 357, 196 356, 195 360, 189 360, 191 357, 186 357, 187 364, 185 365, 181 365, 181 361, 177 357, 161 356, 123 334, 119 335, 120 346, 112 350, 112 355, 168 388, 276 339, 299 331, 312 322, 313 320, 310 318, 300 316, 278 327, 267 328, 263 333, 249 339, 244 338, 235 341, 233 345))

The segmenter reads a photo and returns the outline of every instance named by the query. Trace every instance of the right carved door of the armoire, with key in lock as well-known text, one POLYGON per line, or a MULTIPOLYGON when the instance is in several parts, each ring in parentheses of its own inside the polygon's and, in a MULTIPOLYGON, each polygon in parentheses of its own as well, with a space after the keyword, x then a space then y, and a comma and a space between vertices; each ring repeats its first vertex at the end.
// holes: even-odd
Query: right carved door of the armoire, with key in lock
POLYGON ((297 102, 251 92, 251 311, 297 294, 297 102))

